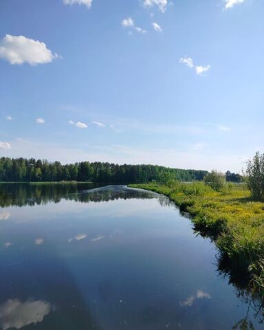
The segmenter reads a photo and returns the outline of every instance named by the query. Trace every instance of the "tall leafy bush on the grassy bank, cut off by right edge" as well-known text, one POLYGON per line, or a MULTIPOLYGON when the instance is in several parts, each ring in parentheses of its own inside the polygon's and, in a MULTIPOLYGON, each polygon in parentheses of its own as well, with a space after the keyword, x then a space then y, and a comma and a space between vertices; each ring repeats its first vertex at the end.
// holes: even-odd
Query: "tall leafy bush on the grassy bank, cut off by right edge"
POLYGON ((254 199, 264 197, 264 154, 256 153, 248 160, 245 175, 248 177, 248 188, 254 199))

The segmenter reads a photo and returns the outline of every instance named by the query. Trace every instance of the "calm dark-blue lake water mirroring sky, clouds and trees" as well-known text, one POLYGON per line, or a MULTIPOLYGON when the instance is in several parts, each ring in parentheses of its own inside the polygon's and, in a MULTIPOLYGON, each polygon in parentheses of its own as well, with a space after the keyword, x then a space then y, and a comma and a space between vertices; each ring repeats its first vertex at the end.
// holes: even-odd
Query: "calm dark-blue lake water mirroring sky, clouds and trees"
POLYGON ((0 185, 0 329, 263 329, 166 197, 88 188, 0 185))

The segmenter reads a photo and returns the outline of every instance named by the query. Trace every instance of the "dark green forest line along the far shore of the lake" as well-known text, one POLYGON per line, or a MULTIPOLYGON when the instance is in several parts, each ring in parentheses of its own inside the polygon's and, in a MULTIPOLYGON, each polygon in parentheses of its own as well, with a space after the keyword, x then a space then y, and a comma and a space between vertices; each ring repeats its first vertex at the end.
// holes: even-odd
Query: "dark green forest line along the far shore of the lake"
POLYGON ((203 180, 206 170, 183 170, 157 165, 118 165, 102 162, 79 162, 63 165, 47 160, 0 158, 0 181, 47 182, 92 181, 104 183, 144 183, 203 180))

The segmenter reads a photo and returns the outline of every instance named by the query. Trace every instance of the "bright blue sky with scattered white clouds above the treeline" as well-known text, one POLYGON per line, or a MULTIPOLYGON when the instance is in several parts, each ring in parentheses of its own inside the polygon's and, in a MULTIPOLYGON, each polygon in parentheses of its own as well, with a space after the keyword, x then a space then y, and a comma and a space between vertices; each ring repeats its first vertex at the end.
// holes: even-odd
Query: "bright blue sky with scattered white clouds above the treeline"
POLYGON ((263 0, 0 0, 0 157, 240 172, 263 0))

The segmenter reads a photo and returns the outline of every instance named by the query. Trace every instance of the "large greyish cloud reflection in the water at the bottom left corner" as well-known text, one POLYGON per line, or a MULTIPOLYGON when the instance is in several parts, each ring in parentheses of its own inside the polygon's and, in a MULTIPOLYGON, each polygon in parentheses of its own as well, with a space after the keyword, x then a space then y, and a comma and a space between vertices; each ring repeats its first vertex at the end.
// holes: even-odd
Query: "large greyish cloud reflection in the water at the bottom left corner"
POLYGON ((51 306, 43 300, 25 301, 9 299, 0 305, 0 325, 3 330, 20 329, 30 323, 41 322, 50 313, 51 306))

